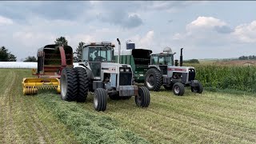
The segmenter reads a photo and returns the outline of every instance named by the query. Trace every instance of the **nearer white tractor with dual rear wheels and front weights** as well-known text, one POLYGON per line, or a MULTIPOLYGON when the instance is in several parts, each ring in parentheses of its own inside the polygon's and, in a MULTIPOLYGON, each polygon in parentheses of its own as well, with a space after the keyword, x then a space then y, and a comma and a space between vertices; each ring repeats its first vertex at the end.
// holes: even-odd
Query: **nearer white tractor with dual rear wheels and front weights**
MULTIPOLYGON (((118 40, 118 50, 121 43, 118 40)), ((120 54, 119 54, 120 55, 120 54)), ((66 67, 61 76, 61 97, 66 101, 85 102, 88 91, 94 92, 94 109, 106 110, 110 99, 129 99, 135 96, 137 106, 150 105, 150 92, 132 85, 133 71, 127 64, 114 63, 114 45, 111 42, 91 42, 82 49, 82 62, 66 67)))

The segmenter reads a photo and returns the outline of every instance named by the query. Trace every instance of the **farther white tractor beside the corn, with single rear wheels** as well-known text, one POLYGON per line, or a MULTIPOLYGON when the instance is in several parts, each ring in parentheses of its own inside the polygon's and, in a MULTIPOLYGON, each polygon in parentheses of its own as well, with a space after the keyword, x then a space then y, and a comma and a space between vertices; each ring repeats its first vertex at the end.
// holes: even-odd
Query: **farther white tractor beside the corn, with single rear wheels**
POLYGON ((175 60, 171 49, 167 47, 161 54, 151 54, 149 70, 146 71, 145 86, 149 90, 158 91, 161 86, 166 90, 173 90, 175 95, 183 95, 185 86, 191 86, 191 91, 202 94, 201 82, 195 80, 196 71, 192 66, 182 66, 182 50, 180 66, 175 60))

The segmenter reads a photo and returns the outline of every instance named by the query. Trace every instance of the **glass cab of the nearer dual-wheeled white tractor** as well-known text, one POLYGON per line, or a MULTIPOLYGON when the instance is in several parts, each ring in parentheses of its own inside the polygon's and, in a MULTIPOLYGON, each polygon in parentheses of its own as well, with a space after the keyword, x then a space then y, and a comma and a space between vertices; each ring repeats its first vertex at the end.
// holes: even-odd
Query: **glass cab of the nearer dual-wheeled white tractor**
POLYGON ((83 47, 82 61, 89 64, 94 78, 100 78, 102 62, 114 62, 114 45, 111 42, 91 42, 83 47))

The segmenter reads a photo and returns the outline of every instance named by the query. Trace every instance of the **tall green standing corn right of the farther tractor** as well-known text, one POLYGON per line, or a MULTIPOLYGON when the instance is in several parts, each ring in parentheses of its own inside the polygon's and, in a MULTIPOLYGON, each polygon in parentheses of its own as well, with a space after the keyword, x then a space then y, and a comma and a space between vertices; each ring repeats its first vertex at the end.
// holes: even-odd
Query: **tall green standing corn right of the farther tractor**
POLYGON ((256 66, 194 65, 205 87, 256 92, 256 66))

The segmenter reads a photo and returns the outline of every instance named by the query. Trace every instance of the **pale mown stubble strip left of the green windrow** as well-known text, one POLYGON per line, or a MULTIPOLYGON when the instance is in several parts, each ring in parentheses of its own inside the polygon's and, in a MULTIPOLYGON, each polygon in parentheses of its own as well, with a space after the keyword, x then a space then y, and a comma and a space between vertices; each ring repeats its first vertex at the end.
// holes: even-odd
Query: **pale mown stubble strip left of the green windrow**
POLYGON ((38 97, 23 96, 26 76, 30 70, 0 69, 0 143, 77 143, 38 97))

